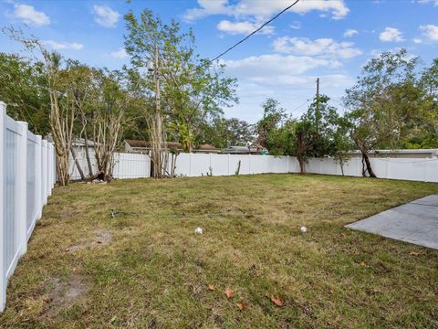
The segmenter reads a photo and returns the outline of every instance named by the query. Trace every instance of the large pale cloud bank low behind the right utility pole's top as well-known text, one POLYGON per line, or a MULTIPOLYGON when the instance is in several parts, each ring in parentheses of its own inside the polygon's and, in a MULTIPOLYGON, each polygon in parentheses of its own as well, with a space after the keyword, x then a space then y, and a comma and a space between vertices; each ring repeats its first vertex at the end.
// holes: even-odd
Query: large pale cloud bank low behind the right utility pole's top
MULTIPOLYGON (((296 110, 298 105, 313 97, 317 77, 321 80, 321 92, 333 98, 341 97, 354 82, 336 69, 338 61, 328 58, 275 54, 222 62, 226 65, 226 74, 239 80, 240 103, 224 109, 225 115, 248 122, 256 122, 262 117, 261 103, 267 97, 280 101, 287 111, 296 110), (333 68, 334 72, 325 72, 333 68), (313 69, 318 69, 318 76, 313 69)), ((307 106, 302 106, 293 114, 297 117, 306 110, 307 106)))

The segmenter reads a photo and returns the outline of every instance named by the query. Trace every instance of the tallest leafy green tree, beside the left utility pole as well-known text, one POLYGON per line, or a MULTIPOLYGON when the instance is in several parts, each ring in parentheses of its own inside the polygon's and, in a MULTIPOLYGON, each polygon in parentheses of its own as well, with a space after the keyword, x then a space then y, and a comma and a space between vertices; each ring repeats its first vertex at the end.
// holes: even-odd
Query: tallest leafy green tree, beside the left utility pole
MULTIPOLYGON (((125 19, 130 31, 125 47, 134 68, 148 68, 154 53, 158 54, 157 91, 161 94, 163 124, 175 133, 184 151, 190 152, 203 124, 220 114, 223 106, 237 101, 235 80, 223 77, 223 65, 196 55, 193 32, 183 33, 175 21, 163 24, 149 10, 144 10, 139 19, 132 13, 125 19)), ((145 77, 146 97, 156 90, 151 74, 145 77)))

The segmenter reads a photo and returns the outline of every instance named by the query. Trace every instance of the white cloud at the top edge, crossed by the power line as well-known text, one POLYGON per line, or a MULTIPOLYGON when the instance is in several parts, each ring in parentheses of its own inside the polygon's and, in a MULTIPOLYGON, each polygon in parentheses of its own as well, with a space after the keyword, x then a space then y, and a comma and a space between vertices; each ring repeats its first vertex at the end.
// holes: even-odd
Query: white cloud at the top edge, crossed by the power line
MULTIPOLYGON (((230 4, 228 0, 198 0, 198 7, 188 9, 183 18, 193 21, 205 16, 227 15, 227 16, 255 16, 258 19, 265 19, 291 5, 290 0, 239 0, 230 4)), ((322 11, 331 14, 332 18, 339 19, 347 16, 349 8, 344 0, 313 0, 299 1, 289 9, 290 12, 297 14, 307 14, 311 11, 322 11)))

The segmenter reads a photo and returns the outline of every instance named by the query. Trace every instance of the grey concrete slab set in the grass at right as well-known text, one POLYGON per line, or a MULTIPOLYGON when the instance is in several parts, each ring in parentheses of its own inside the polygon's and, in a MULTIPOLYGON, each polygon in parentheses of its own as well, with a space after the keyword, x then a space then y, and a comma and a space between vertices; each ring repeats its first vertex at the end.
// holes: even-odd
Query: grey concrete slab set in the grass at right
POLYGON ((346 228, 438 249, 438 195, 393 207, 346 228))

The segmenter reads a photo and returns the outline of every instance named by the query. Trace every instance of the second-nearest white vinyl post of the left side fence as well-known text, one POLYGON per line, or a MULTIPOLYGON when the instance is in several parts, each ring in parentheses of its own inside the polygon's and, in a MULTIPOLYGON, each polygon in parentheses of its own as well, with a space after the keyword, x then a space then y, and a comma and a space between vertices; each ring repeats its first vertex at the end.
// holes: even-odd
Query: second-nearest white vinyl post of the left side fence
POLYGON ((27 209, 27 170, 26 170, 26 155, 27 155, 27 122, 17 122, 20 125, 21 132, 19 134, 16 147, 16 232, 17 241, 20 246, 20 255, 27 251, 27 225, 26 225, 26 209, 27 209))

